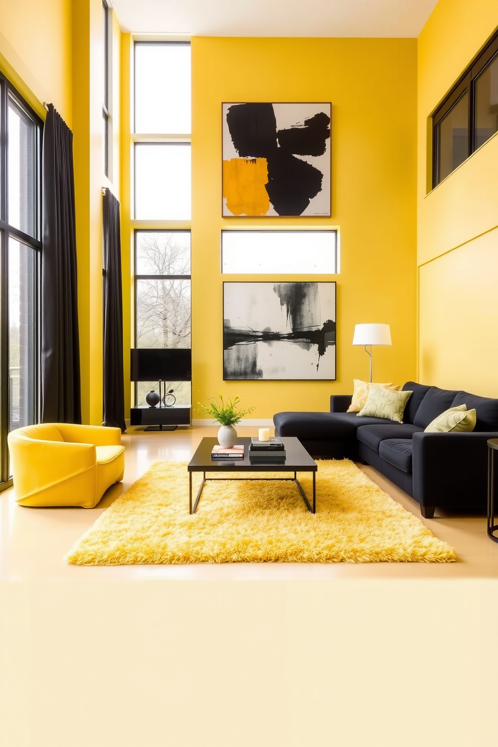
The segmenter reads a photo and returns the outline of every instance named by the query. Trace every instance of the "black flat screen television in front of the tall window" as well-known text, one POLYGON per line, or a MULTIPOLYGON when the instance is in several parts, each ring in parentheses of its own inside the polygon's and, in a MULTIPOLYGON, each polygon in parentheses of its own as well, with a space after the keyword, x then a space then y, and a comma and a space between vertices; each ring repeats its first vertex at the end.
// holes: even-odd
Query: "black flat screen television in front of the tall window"
POLYGON ((131 381, 191 381, 192 350, 131 348, 131 381))

